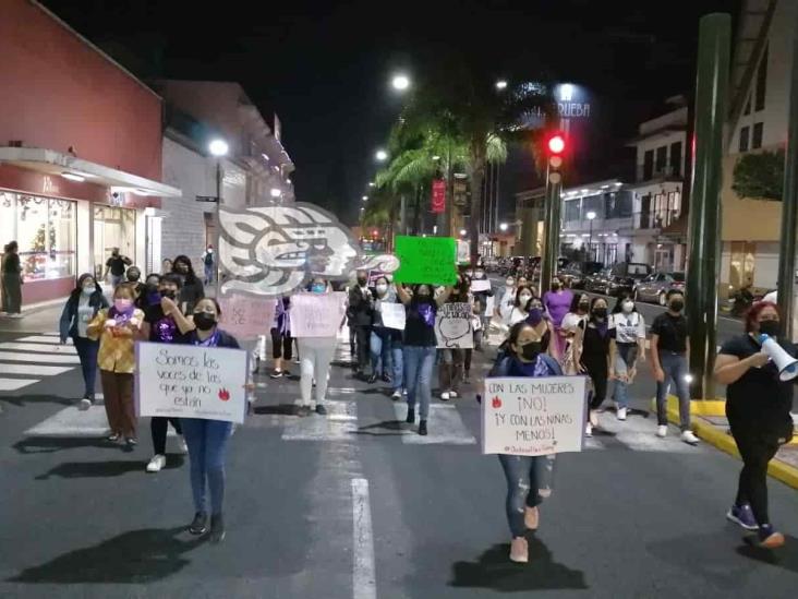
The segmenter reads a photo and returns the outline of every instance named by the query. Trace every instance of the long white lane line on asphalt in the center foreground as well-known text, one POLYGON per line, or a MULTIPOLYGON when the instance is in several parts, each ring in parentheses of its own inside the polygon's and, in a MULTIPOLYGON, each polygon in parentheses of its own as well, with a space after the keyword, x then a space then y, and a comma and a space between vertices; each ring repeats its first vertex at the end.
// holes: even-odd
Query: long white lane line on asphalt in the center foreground
POLYGON ((352 597, 376 599, 377 575, 374 565, 374 529, 368 501, 368 481, 352 479, 352 597))

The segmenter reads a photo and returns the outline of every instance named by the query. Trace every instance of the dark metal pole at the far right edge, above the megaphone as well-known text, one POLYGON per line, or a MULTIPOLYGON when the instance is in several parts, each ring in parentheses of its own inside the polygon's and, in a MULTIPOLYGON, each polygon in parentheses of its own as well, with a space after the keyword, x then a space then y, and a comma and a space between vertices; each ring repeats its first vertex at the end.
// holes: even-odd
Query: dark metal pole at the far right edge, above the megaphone
MULTIPOLYGON (((796 29, 798 31, 798 29, 796 29)), ((782 197, 782 243, 778 256, 778 312, 782 335, 793 338, 793 296, 795 289, 796 225, 798 225, 798 34, 793 36, 793 69, 789 88, 787 155, 784 160, 782 197)))

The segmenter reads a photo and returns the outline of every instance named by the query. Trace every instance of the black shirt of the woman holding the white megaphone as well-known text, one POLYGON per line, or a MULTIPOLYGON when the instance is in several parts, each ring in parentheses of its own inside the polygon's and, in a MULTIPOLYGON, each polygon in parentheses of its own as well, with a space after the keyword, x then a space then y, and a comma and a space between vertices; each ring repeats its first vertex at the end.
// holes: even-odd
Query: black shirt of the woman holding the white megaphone
MULTIPOLYGON (((796 348, 789 342, 779 340, 787 354, 795 357, 796 348)), ((739 335, 726 342, 721 354, 735 356, 740 360, 759 354, 761 346, 750 335, 739 335)), ((762 417, 789 418, 793 408, 793 381, 783 383, 778 370, 771 361, 762 368, 749 368, 746 373, 726 387, 726 411, 745 415, 752 419, 762 417)))

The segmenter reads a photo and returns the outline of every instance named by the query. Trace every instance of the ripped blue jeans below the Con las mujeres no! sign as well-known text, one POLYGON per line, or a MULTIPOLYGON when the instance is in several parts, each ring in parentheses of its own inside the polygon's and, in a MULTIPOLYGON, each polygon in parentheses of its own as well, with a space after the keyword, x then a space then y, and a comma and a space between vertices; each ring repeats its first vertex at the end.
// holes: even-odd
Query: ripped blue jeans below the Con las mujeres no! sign
POLYGON ((540 505, 552 494, 555 456, 499 454, 498 457, 507 479, 507 524, 513 537, 523 537, 524 507, 540 505))

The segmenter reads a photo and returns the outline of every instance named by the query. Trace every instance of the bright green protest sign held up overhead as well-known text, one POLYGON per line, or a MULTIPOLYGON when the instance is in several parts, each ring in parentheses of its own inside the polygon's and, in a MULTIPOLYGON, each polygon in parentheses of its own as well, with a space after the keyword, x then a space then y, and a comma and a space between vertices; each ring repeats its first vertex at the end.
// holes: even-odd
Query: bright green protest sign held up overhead
POLYGON ((427 283, 454 285, 457 281, 455 239, 451 237, 396 238, 399 269, 394 273, 397 283, 427 283))

